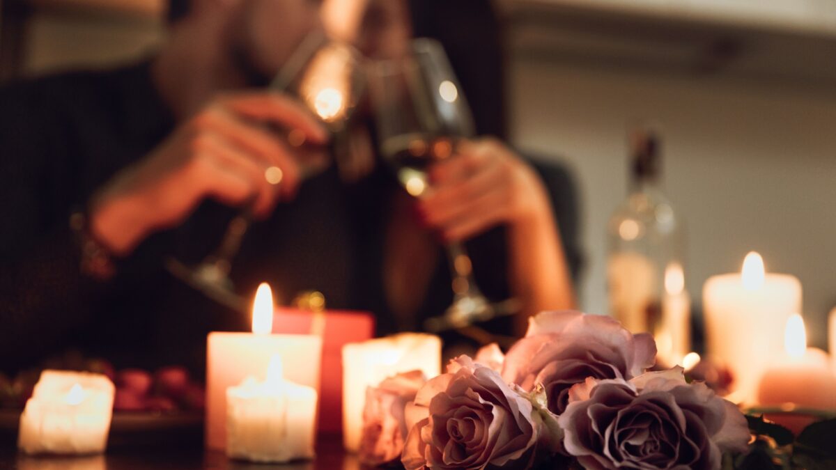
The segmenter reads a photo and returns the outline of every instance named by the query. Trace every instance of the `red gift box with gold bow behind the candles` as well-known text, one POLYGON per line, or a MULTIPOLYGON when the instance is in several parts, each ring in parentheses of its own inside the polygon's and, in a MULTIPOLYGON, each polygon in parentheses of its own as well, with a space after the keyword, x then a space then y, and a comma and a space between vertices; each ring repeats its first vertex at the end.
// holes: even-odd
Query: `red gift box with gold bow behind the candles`
POLYGON ((367 312, 327 310, 314 313, 279 307, 273 314, 273 333, 323 336, 319 431, 342 432, 343 345, 370 340, 375 334, 375 317, 367 312))

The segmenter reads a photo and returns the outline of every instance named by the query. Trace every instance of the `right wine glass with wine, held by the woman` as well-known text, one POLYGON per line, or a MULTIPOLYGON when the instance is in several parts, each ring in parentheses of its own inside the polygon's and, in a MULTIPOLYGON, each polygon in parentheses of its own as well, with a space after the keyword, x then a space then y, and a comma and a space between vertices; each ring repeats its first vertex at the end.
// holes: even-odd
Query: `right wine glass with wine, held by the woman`
MULTIPOLYGON (((441 44, 419 38, 410 56, 370 67, 380 154, 406 192, 421 197, 427 170, 451 157, 456 143, 475 134, 473 116, 441 44)), ((447 243, 453 303, 441 317, 427 319, 430 331, 461 329, 505 314, 492 305, 473 278, 471 258, 461 243, 447 243)))

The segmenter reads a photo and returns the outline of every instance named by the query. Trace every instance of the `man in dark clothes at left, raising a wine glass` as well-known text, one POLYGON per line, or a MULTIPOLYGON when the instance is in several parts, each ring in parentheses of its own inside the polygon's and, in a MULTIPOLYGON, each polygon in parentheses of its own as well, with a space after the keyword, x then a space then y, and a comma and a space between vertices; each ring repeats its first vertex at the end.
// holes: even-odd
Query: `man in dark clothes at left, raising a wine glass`
MULTIPOLYGON (((194 0, 150 61, 3 89, 3 361, 29 364, 80 343, 141 363, 155 331, 205 335, 205 322, 195 320, 195 335, 172 313, 194 296, 174 292, 180 286, 171 287, 161 255, 193 261, 217 243, 230 211, 211 201, 252 204, 264 218, 296 197, 293 151, 263 123, 313 143, 328 136, 294 100, 252 89, 319 28, 318 8, 312 0, 194 0), (169 310, 163 321, 161 309, 169 310)), ((183 305, 182 316, 201 316, 188 311, 201 305, 183 305)), ((192 347, 186 359, 200 354, 192 347)))

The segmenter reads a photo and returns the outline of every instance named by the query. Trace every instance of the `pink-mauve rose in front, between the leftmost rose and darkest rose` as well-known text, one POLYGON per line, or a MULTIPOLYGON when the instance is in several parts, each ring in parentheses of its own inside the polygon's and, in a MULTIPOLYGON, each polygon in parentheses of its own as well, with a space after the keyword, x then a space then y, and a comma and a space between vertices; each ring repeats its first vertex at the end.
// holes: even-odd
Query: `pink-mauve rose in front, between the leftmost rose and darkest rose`
POLYGON ((415 425, 406 438, 404 467, 527 468, 538 440, 551 438, 541 411, 495 370, 465 355, 447 372, 428 381, 407 406, 407 421, 415 425))

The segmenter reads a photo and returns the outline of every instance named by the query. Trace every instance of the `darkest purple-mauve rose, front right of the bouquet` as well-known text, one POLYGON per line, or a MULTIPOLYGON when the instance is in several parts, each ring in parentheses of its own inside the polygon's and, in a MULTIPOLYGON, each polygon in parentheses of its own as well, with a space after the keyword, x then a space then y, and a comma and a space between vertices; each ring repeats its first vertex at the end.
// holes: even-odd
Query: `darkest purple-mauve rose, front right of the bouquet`
POLYGON ((722 452, 746 450, 746 418, 681 368, 631 381, 588 379, 558 418, 566 452, 584 468, 719 469, 722 452))

